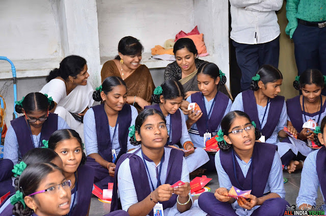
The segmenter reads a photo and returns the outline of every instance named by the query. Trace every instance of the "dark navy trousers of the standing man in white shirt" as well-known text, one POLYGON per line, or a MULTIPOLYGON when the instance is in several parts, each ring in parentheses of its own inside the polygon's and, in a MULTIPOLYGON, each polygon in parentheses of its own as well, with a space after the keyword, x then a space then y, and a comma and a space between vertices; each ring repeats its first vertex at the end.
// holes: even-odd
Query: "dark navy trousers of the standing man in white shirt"
POLYGON ((252 77, 262 65, 279 67, 280 36, 260 44, 243 44, 232 41, 235 47, 236 61, 241 69, 241 91, 250 88, 252 77))

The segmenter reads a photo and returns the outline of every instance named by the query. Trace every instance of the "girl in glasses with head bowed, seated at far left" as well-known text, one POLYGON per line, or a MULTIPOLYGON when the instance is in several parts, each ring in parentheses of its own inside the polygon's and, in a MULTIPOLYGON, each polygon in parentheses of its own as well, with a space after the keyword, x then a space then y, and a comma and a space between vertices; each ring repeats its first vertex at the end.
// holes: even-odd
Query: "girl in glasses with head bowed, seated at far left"
POLYGON ((54 131, 69 128, 61 117, 48 112, 54 102, 42 93, 30 93, 15 103, 16 112, 23 116, 11 121, 4 145, 4 158, 14 165, 30 149, 44 146, 42 140, 48 140, 54 131))

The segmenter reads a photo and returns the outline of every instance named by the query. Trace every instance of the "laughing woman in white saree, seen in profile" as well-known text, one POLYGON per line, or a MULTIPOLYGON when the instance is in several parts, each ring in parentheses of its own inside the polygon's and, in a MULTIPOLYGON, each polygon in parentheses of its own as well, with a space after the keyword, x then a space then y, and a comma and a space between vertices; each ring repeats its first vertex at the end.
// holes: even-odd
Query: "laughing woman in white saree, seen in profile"
POLYGON ((50 113, 63 118, 71 129, 76 130, 84 140, 83 117, 94 103, 93 88, 87 78, 86 60, 79 56, 64 58, 60 67, 53 69, 46 77, 41 93, 47 94, 55 102, 50 113))

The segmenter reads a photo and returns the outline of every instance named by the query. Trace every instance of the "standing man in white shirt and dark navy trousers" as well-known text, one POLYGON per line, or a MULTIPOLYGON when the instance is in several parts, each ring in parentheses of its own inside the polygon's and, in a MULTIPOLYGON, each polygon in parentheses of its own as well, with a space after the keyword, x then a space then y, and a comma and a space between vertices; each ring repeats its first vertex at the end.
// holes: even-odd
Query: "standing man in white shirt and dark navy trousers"
POLYGON ((231 39, 241 69, 241 91, 265 64, 279 66, 280 26, 275 11, 283 0, 230 0, 231 39))

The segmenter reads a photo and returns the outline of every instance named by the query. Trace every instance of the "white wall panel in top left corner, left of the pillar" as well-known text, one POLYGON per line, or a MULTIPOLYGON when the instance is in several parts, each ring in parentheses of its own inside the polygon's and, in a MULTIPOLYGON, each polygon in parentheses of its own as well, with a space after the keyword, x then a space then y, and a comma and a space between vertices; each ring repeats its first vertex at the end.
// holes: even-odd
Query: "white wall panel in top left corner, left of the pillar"
POLYGON ((1 0, 0 56, 12 60, 62 55, 56 0, 1 0))

